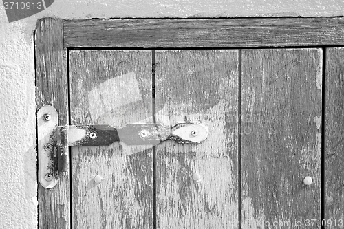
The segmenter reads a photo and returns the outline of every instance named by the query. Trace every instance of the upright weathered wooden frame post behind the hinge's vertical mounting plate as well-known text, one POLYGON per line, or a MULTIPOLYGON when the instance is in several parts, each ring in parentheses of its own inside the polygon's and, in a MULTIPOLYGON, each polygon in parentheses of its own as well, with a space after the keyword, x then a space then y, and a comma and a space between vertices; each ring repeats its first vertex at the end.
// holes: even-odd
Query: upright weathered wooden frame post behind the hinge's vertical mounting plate
MULTIPOLYGON (((58 112, 58 124, 68 124, 67 51, 63 48, 62 19, 38 22, 34 51, 36 58, 37 108, 52 105, 58 112)), ((61 173, 52 189, 41 185, 39 191, 39 228, 69 228, 69 173, 61 173)))

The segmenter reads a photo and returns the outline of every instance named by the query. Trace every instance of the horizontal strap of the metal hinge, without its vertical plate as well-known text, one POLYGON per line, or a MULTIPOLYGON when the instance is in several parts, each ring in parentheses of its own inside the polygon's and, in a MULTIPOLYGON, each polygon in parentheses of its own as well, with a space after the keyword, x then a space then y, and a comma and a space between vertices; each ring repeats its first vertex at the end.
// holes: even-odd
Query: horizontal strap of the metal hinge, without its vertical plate
POLYGON ((199 144, 206 140, 208 130, 199 123, 178 123, 174 127, 161 124, 127 124, 122 128, 109 125, 72 125, 56 127, 53 138, 64 146, 109 146, 114 142, 127 145, 160 144, 173 140, 179 144, 199 144))

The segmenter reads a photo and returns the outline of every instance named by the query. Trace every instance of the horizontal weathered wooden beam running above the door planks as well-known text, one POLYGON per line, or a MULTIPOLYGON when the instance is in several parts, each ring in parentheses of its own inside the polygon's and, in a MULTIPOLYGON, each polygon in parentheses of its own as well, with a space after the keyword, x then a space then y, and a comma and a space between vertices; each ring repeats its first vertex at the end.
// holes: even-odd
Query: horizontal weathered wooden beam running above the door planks
POLYGON ((343 18, 67 20, 63 30, 65 47, 344 45, 343 18))

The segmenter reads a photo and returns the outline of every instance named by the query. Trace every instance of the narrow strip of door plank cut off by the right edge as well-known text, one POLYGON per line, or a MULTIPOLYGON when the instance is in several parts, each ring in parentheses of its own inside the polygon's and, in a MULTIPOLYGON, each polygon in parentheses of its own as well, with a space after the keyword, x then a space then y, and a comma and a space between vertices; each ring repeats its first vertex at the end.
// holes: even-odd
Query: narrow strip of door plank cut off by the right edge
POLYGON ((327 49, 325 76, 325 219, 330 219, 332 226, 336 220, 337 228, 344 228, 343 59, 343 47, 327 49))

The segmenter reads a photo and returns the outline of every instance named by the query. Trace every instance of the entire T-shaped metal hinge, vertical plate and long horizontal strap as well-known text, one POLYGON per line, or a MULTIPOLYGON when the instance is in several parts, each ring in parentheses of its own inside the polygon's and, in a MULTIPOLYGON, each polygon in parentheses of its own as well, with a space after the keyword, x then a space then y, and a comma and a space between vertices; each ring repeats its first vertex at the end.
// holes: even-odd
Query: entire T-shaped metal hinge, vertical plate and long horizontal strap
POLYGON ((109 146, 114 142, 128 145, 155 145, 165 140, 179 144, 199 144, 208 137, 208 127, 200 122, 183 122, 174 127, 161 124, 127 124, 122 128, 110 125, 58 126, 58 113, 52 106, 37 111, 39 138, 39 182, 53 188, 58 177, 67 171, 69 146, 109 146))

